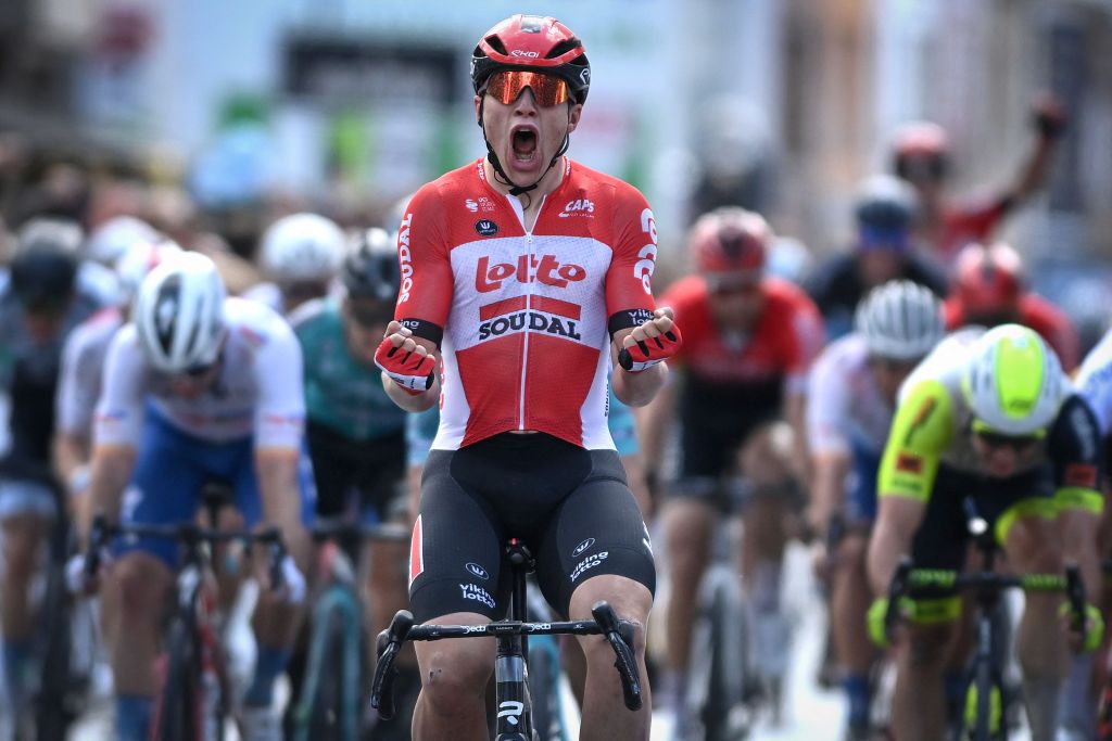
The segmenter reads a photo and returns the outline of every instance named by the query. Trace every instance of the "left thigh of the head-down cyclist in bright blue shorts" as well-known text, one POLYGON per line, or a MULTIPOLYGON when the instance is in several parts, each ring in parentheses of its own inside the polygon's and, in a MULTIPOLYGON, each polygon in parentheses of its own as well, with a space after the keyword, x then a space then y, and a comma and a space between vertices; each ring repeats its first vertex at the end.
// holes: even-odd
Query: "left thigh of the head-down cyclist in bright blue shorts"
MULTIPOLYGON (((192 520, 206 472, 205 443, 178 432, 148 411, 131 484, 123 493, 125 523, 169 524, 192 520)), ((162 538, 118 541, 117 552, 143 551, 177 565, 178 545, 162 538)))

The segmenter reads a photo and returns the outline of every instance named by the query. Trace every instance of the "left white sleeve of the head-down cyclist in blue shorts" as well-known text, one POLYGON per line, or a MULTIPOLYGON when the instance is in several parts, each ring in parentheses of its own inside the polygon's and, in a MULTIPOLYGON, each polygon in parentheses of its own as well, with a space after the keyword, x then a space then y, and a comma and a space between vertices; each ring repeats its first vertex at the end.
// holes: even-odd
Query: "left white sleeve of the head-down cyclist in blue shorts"
POLYGON ((138 448, 146 393, 147 363, 135 324, 128 324, 108 346, 103 388, 93 418, 93 444, 138 448))

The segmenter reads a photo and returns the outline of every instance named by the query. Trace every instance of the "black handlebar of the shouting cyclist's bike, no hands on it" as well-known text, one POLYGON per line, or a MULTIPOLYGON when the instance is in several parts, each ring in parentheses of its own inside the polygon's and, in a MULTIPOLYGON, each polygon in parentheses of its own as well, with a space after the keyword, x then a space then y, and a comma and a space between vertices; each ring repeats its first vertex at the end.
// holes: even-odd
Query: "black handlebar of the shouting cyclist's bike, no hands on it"
POLYGON ((394 717, 394 678, 398 673, 394 660, 406 641, 439 641, 449 638, 481 638, 499 635, 604 635, 614 650, 614 667, 622 679, 622 694, 626 708, 639 710, 643 704, 641 674, 633 653, 633 623, 619 620, 606 601, 590 608, 593 620, 569 620, 556 622, 524 622, 502 620, 480 625, 415 625, 408 610, 399 610, 389 628, 378 634, 376 650, 378 665, 371 683, 370 704, 378 710, 379 718, 394 717))

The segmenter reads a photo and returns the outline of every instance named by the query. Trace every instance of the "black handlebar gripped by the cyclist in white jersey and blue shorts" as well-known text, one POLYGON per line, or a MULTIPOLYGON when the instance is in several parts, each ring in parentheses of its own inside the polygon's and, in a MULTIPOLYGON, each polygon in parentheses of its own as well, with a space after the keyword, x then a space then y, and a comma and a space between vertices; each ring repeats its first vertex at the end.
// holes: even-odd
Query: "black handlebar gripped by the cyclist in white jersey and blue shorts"
POLYGON ((121 538, 162 538, 176 540, 191 550, 201 543, 226 543, 238 541, 246 545, 266 545, 269 554, 269 572, 271 591, 280 591, 286 581, 281 563, 286 558, 286 542, 278 528, 266 528, 258 531, 249 530, 215 530, 202 528, 196 522, 179 522, 176 524, 120 524, 109 523, 103 514, 93 518, 89 534, 89 545, 86 550, 85 575, 93 577, 100 569, 100 551, 115 537, 121 538))

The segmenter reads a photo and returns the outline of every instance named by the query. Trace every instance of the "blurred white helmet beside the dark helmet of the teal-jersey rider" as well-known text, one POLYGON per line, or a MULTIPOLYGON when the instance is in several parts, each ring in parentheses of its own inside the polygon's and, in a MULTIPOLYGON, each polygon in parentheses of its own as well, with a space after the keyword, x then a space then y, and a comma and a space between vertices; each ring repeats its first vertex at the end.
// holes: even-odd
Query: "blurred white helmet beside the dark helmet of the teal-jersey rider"
POLYGON ((346 248, 335 221, 295 213, 274 222, 262 234, 259 262, 278 283, 327 281, 339 269, 346 248))

